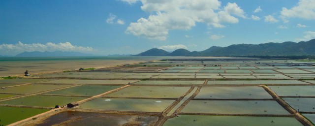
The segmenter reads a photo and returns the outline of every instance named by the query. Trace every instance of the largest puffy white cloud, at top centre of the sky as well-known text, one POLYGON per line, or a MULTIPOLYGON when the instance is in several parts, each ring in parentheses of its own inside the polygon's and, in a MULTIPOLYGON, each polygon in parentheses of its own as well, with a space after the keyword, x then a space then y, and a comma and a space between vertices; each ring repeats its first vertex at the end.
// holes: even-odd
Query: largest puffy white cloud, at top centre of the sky
POLYGON ((148 39, 166 40, 170 30, 190 30, 199 23, 224 28, 224 23, 238 23, 246 18, 236 3, 221 6, 219 0, 140 0, 141 9, 151 13, 130 23, 126 33, 148 39))

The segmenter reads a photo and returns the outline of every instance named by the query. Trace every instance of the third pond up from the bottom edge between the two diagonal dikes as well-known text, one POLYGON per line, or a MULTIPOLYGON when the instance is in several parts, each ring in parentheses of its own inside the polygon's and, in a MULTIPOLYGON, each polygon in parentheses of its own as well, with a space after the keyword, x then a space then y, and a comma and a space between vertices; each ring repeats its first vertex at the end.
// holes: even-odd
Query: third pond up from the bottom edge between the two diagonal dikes
POLYGON ((272 98, 262 87, 202 87, 194 98, 272 98))

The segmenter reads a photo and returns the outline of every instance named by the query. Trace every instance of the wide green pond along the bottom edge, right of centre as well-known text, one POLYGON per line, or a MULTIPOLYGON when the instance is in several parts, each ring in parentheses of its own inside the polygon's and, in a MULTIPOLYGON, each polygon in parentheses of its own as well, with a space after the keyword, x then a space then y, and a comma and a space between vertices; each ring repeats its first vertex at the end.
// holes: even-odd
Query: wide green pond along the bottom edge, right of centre
POLYGON ((163 126, 303 126, 293 117, 179 115, 163 126), (272 123, 274 122, 274 123, 272 123))

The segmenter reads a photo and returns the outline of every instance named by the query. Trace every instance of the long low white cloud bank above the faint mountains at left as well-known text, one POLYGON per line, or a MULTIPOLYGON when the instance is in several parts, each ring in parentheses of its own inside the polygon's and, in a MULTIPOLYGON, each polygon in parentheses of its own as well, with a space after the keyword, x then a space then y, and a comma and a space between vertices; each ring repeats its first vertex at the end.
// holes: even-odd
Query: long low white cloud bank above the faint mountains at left
POLYGON ((32 43, 32 44, 24 44, 22 42, 18 42, 16 44, 2 44, 0 45, 0 53, 1 55, 17 55, 22 52, 33 52, 33 51, 65 51, 65 52, 93 52, 96 51, 92 47, 82 47, 72 45, 70 42, 65 43, 51 43, 48 42, 46 44, 41 43, 32 43))

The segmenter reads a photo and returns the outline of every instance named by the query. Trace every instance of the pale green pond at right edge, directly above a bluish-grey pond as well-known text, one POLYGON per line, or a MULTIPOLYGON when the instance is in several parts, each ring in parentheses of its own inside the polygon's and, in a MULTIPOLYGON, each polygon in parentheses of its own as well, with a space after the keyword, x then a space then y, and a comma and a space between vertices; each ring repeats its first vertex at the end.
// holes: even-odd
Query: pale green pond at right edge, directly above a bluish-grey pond
POLYGON ((279 96, 315 96, 315 86, 268 86, 279 96))

